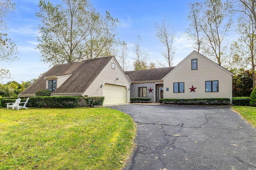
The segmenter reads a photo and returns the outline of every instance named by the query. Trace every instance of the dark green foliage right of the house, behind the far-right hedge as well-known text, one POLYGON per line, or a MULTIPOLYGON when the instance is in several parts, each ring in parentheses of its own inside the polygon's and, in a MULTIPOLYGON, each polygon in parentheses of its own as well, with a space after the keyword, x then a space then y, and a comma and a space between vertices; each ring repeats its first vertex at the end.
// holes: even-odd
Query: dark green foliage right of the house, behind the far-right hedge
POLYGON ((252 92, 252 72, 241 69, 232 78, 233 97, 249 97, 252 92))

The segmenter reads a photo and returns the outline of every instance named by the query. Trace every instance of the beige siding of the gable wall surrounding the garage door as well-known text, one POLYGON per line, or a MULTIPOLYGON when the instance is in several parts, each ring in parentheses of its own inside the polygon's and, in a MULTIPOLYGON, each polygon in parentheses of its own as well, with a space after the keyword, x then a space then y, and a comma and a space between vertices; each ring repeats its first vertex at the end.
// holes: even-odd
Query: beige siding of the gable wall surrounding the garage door
POLYGON ((114 84, 118 86, 125 86, 127 90, 127 100, 130 102, 130 93, 128 91, 130 87, 130 82, 127 79, 124 72, 119 67, 119 64, 114 58, 110 60, 108 64, 103 68, 102 72, 97 76, 97 78, 92 82, 89 88, 84 92, 84 96, 104 96, 103 89, 100 85, 104 84, 114 84), (112 63, 115 64, 115 69, 112 68, 112 63), (116 80, 118 78, 118 80, 116 80))

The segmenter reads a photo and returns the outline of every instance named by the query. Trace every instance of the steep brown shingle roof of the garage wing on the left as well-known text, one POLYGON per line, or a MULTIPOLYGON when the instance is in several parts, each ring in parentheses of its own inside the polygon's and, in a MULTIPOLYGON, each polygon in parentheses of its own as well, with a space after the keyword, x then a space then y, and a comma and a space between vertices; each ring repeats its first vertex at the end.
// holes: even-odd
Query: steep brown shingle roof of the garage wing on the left
POLYGON ((108 64, 112 57, 103 57, 98 59, 84 60, 80 63, 68 63, 53 66, 38 78, 33 84, 28 86, 21 95, 35 94, 37 90, 46 88, 46 80, 44 77, 60 76, 72 74, 53 94, 57 93, 83 93, 100 74, 102 69, 108 64))

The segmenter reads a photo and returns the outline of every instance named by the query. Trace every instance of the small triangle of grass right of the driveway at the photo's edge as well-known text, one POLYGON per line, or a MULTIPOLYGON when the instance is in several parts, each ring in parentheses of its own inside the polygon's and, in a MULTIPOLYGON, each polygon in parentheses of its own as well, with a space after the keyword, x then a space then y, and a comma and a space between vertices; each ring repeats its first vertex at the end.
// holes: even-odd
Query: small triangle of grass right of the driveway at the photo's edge
POLYGON ((256 127, 256 107, 250 106, 232 106, 232 108, 240 113, 244 119, 256 127))

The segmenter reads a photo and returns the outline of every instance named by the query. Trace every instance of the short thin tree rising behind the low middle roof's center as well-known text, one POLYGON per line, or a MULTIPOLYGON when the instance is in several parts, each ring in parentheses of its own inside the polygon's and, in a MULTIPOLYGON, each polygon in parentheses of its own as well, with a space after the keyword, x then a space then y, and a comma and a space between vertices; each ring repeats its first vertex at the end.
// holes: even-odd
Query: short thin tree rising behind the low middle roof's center
POLYGON ((136 36, 136 41, 134 42, 134 53, 135 53, 135 58, 134 58, 134 70, 144 70, 147 69, 147 56, 148 53, 146 51, 142 51, 140 46, 141 46, 141 39, 140 36, 136 36))

